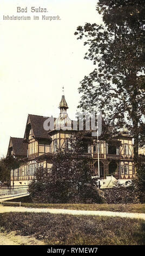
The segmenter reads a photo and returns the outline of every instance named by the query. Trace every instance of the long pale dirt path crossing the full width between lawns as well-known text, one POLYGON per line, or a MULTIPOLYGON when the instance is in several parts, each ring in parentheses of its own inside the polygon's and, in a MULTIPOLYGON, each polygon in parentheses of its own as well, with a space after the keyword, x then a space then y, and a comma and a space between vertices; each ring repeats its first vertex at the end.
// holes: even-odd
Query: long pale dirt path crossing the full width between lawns
POLYGON ((130 212, 113 212, 113 211, 84 211, 68 209, 48 209, 48 208, 25 208, 14 206, 0 206, 0 213, 3 212, 50 212, 51 214, 71 214, 71 215, 96 215, 122 218, 140 218, 145 220, 145 214, 130 212))

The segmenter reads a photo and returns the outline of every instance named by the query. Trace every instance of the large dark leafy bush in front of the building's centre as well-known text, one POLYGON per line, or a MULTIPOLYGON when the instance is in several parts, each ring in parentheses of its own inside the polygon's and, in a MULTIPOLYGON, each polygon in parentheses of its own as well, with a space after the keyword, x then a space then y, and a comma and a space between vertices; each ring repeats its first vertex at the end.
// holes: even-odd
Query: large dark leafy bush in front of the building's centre
POLYGON ((45 203, 101 203, 96 182, 91 178, 90 157, 83 153, 82 137, 70 139, 70 149, 52 157, 52 168, 40 168, 29 185, 31 197, 45 203))

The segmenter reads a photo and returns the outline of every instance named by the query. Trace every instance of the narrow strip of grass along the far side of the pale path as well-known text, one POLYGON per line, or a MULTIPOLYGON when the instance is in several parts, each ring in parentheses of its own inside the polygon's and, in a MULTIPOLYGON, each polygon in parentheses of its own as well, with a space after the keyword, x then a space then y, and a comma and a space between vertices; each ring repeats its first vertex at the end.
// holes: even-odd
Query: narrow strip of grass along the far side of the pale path
MULTIPOLYGON (((18 206, 15 203, 3 202, 3 205, 18 206)), ((94 211, 121 211, 145 213, 145 204, 39 204, 21 203, 28 208, 55 208, 70 210, 94 210, 94 211)))

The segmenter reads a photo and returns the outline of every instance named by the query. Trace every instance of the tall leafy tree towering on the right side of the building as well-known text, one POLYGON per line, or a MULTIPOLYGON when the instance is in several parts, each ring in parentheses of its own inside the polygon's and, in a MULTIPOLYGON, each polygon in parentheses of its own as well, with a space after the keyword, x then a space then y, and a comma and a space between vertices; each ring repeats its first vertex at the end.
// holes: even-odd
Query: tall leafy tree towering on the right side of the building
POLYGON ((104 25, 85 23, 75 32, 88 46, 84 58, 95 65, 81 81, 79 107, 90 111, 97 104, 106 124, 115 127, 114 133, 126 123, 134 137, 137 163, 145 137, 144 1, 99 0, 97 11, 104 25))

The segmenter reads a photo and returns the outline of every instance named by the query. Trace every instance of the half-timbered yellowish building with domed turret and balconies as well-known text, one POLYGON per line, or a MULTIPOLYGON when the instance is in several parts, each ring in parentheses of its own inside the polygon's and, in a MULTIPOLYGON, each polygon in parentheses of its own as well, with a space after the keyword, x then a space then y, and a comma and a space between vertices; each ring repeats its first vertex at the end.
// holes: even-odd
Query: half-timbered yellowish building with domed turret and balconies
MULTIPOLYGON (((52 155, 57 149, 68 147, 68 138, 74 130, 67 114, 68 105, 64 95, 59 107, 60 115, 55 119, 54 129, 49 131, 44 129, 44 121, 48 120, 47 117, 29 114, 24 138, 10 137, 7 155, 11 154, 22 160, 19 168, 11 170, 11 186, 29 185, 38 167, 51 168, 52 155), (60 124, 67 125, 68 129, 57 130, 60 124)), ((91 136, 86 137, 85 142, 87 142, 86 153, 93 157, 90 165, 94 169, 94 176, 98 175, 99 162, 102 179, 113 175, 123 184, 134 178, 133 143, 126 129, 122 129, 110 142, 98 138, 97 143, 97 138, 91 136)))

